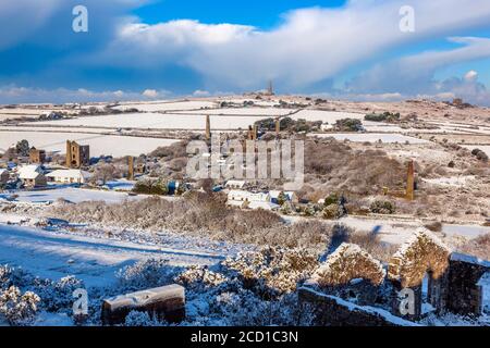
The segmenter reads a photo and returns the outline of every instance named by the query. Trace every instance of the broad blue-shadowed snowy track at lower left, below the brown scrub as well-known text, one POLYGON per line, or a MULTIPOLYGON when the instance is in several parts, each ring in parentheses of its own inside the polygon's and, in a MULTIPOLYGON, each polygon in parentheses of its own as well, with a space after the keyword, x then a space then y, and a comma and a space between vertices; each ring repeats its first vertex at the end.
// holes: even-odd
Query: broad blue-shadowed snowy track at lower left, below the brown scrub
POLYGON ((0 264, 22 266, 52 279, 75 275, 87 286, 109 285, 119 269, 140 260, 167 259, 174 266, 210 265, 225 256, 198 245, 183 249, 182 244, 172 241, 156 246, 0 224, 0 264))

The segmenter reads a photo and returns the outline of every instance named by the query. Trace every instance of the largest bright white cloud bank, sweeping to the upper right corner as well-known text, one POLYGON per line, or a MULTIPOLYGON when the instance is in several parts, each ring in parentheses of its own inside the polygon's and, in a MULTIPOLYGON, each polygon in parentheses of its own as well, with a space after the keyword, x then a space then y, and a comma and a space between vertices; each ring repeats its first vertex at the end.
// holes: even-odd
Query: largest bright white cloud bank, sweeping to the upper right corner
POLYGON ((339 9, 296 10, 271 30, 187 20, 130 23, 96 61, 138 67, 176 63, 221 87, 264 86, 272 78, 297 88, 334 77, 391 48, 453 35, 490 20, 488 0, 474 0, 471 5, 460 0, 411 2, 415 33, 399 29, 405 0, 353 0, 339 9))

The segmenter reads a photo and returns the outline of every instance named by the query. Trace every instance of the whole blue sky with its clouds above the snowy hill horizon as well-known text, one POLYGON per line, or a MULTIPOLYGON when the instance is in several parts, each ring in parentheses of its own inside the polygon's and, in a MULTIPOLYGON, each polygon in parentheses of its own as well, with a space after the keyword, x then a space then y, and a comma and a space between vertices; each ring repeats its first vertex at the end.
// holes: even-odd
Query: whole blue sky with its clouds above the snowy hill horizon
POLYGON ((490 104, 490 1, 16 0, 0 4, 0 103, 264 88, 490 104), (74 33, 72 9, 88 10, 74 33), (403 5, 414 30, 400 30, 403 5))

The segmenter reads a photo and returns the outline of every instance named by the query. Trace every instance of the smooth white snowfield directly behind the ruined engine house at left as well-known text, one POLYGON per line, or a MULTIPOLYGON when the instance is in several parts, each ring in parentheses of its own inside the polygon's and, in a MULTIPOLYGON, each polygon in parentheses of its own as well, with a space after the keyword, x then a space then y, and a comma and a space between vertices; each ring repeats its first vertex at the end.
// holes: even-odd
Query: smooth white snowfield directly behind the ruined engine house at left
MULTIPOLYGON (((95 117, 94 117, 95 119, 95 117)), ((78 119, 79 120, 79 119, 78 119)), ((81 129, 82 130, 82 129, 81 129)), ((85 133, 49 133, 49 132, 0 132, 0 149, 15 146, 22 139, 26 139, 30 146, 47 151, 64 153, 66 140, 75 140, 82 145, 90 146, 90 156, 139 156, 148 153, 160 146, 169 146, 177 140, 143 138, 131 136, 109 136, 85 133)))

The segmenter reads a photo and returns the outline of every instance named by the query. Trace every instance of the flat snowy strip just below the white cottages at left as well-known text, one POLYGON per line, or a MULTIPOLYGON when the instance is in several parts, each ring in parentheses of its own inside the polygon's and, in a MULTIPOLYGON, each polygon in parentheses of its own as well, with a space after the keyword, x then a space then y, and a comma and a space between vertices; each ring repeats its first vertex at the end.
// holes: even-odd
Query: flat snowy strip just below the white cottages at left
MULTIPOLYGON (((32 190, 32 191, 15 191, 19 197, 15 201, 19 202, 29 202, 29 203, 41 203, 41 202, 53 202, 59 198, 69 200, 74 203, 79 203, 90 200, 102 200, 108 203, 118 203, 124 200, 139 200, 147 196, 128 196, 125 192, 118 191, 105 191, 96 189, 76 188, 76 187, 61 187, 54 189, 44 189, 44 190, 32 190)), ((10 197, 10 194, 0 194, 0 202, 10 197)))

